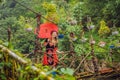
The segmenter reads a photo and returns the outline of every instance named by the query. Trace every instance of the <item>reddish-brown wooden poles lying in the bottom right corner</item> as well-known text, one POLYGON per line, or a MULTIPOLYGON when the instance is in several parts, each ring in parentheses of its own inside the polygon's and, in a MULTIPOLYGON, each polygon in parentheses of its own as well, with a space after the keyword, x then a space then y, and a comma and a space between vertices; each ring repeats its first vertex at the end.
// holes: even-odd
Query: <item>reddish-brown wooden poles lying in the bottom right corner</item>
MULTIPOLYGON (((114 77, 115 75, 120 75, 120 69, 111 69, 111 68, 106 68, 106 69, 103 69, 103 70, 100 70, 98 71, 98 74, 99 75, 103 75, 103 76, 96 76, 97 79, 100 79, 100 80, 108 80, 110 77, 114 77), (106 74, 106 76, 105 76, 106 74), (108 79, 107 79, 108 78, 108 79)), ((94 73, 90 73, 90 72, 82 72, 82 73, 77 73, 77 79, 87 79, 90 77, 94 77, 94 73)))

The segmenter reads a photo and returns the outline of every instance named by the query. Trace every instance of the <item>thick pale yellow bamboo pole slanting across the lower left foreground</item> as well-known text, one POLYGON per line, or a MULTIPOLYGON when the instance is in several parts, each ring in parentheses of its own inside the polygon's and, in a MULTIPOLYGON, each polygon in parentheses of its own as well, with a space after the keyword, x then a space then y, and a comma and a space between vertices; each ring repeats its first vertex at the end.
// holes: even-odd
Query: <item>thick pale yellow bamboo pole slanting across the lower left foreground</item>
MULTIPOLYGON (((22 57, 18 56, 17 54, 15 54, 14 52, 10 51, 9 49, 7 49, 6 47, 4 47, 3 45, 0 45, 0 50, 2 50, 3 52, 7 52, 9 56, 13 57, 15 60, 17 60, 18 62, 26 65, 30 65, 26 60, 24 60, 22 57)), ((41 71, 40 69, 38 69, 35 66, 31 66, 31 69, 38 72, 40 75, 42 75, 45 79, 47 78, 47 80, 54 80, 52 77, 47 76, 47 74, 43 71, 41 71)))

